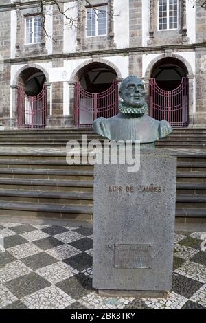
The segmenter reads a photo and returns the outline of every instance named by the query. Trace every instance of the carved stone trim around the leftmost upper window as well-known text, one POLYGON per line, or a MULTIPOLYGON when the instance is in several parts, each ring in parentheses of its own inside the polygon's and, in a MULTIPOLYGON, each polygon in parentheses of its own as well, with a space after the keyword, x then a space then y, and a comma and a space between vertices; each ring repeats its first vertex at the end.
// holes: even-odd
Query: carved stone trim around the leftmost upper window
POLYGON ((25 43, 25 17, 36 16, 40 14, 38 8, 22 9, 19 3, 16 3, 16 57, 37 56, 47 54, 45 49, 45 32, 42 31, 40 43, 25 43))

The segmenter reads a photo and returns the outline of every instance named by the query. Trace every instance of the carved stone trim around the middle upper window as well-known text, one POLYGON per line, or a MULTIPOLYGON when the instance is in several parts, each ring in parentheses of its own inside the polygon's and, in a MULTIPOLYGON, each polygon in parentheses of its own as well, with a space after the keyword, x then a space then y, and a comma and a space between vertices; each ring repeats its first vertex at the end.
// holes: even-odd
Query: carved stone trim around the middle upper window
POLYGON ((113 0, 91 0, 91 5, 106 5, 108 7, 108 33, 104 36, 87 37, 87 10, 88 5, 85 0, 78 0, 78 27, 77 27, 77 51, 109 49, 116 47, 114 42, 114 1, 113 0))

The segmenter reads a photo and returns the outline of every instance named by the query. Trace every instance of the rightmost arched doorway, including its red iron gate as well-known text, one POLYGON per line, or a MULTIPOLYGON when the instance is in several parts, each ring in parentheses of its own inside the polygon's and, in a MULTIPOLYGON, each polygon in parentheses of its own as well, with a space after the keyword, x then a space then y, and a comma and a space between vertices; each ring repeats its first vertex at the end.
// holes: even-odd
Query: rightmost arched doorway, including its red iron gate
POLYGON ((150 115, 174 127, 188 126, 189 96, 187 67, 177 58, 159 60, 150 79, 150 115))

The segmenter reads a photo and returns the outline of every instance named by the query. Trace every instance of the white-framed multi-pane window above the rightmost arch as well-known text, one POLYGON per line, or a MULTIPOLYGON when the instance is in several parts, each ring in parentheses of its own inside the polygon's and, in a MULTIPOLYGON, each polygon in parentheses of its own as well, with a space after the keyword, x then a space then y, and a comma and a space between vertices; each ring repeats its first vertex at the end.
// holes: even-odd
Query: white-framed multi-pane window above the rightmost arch
POLYGON ((178 28, 178 0, 159 0, 159 30, 178 28))

